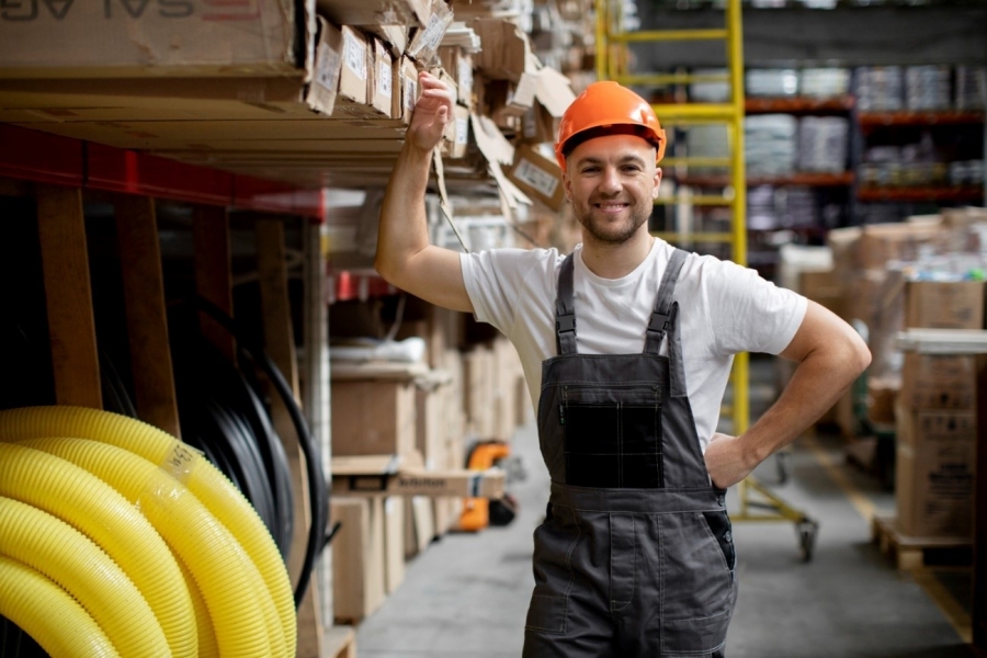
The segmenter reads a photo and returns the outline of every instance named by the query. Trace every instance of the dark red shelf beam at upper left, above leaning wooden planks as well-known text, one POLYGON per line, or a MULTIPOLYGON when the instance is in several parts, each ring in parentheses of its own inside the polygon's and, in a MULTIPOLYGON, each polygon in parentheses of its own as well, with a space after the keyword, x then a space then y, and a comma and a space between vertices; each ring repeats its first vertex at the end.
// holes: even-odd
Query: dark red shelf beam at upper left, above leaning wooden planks
POLYGON ((0 177, 324 220, 320 190, 0 124, 0 177))

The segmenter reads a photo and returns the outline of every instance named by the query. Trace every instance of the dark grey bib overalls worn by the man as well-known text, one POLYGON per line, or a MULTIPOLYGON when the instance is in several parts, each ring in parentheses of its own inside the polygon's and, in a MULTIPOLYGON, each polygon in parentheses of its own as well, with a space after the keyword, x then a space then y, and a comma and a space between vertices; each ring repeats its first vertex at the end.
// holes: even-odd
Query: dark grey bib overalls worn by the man
POLYGON ((673 252, 642 354, 577 353, 572 257, 563 263, 558 355, 542 364, 552 495, 534 535, 525 658, 723 656, 735 554, 685 395, 672 302, 684 259, 673 252))

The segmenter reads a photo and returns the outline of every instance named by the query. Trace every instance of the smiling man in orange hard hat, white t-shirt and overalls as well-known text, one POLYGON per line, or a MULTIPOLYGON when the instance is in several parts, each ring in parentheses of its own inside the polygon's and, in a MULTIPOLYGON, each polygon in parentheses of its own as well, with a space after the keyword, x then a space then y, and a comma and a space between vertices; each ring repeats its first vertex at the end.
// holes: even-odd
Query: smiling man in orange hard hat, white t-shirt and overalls
POLYGON ((521 355, 552 477, 524 656, 723 656, 737 587, 724 490, 839 398, 866 347, 821 306, 648 234, 665 133, 614 82, 591 84, 559 128, 582 226, 572 254, 430 246, 429 162, 452 105, 438 79, 420 82, 375 264, 401 290, 498 327, 521 355), (715 428, 740 351, 798 366, 771 409, 728 436, 715 428))

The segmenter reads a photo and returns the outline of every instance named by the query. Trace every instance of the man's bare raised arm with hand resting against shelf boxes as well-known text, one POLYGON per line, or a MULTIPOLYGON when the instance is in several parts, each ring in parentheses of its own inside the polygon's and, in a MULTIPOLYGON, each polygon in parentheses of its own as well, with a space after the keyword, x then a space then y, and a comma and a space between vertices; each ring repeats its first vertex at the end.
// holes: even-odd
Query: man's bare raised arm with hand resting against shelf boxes
POLYGON ((452 95, 428 72, 398 155, 384 203, 374 266, 388 283, 438 306, 473 313, 460 254, 429 243, 424 195, 432 150, 452 117, 452 95))

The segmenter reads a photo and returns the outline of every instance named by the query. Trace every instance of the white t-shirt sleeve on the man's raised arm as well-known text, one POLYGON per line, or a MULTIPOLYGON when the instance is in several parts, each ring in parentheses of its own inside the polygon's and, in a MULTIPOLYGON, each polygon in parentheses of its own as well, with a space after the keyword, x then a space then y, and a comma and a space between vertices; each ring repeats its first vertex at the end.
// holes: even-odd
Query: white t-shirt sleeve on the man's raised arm
POLYGON ((541 260, 535 249, 492 249, 461 253, 463 281, 477 321, 511 336, 518 293, 524 277, 541 260))

